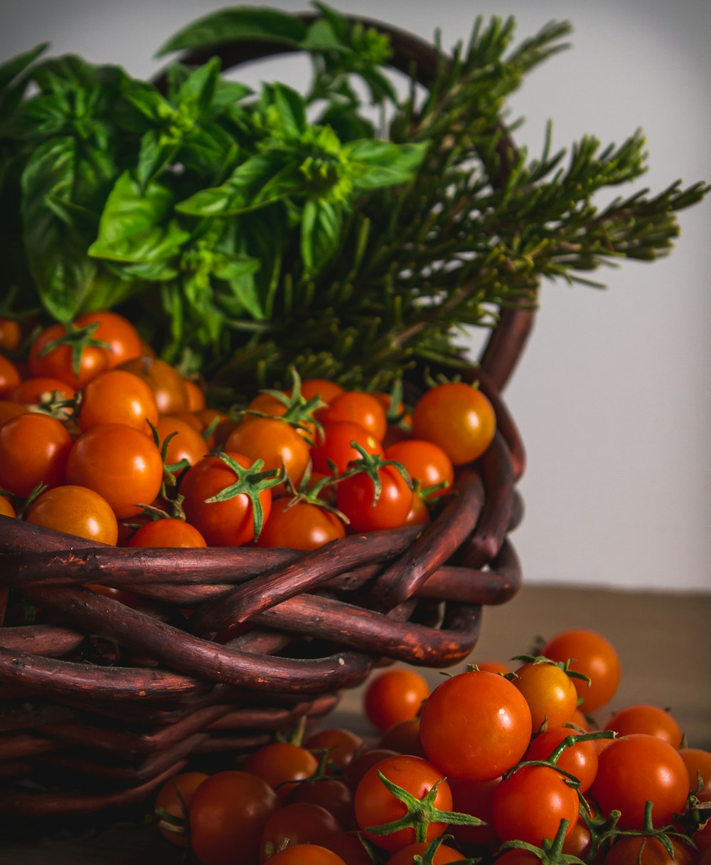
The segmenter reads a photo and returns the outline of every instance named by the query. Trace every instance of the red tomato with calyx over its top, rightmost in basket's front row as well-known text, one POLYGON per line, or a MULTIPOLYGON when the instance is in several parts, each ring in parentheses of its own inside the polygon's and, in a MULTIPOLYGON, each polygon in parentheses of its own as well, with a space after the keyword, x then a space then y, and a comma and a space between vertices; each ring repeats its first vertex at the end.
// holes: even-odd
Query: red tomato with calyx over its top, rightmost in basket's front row
POLYGON ((413 491, 395 466, 378 469, 378 478, 378 501, 372 479, 365 471, 345 477, 336 487, 336 504, 348 517, 352 532, 397 529, 412 508, 413 491))

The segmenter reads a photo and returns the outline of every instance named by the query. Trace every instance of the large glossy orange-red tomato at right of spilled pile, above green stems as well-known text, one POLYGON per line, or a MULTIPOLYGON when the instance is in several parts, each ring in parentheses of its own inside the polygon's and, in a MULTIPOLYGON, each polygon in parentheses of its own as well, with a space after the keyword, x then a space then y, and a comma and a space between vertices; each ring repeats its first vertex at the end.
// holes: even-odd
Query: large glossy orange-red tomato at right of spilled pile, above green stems
POLYGON ((641 829, 644 804, 651 801, 655 826, 683 811, 689 773, 678 751, 645 733, 622 736, 600 753, 591 791, 602 811, 620 811, 620 829, 641 829))

